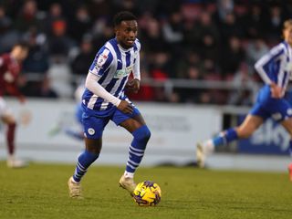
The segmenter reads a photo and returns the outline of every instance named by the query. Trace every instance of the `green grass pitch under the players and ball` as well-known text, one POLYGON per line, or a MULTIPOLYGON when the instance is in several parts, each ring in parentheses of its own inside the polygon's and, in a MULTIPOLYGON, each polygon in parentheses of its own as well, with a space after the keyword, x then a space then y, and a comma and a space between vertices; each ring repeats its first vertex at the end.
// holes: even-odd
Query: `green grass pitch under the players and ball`
POLYGON ((68 198, 73 171, 73 165, 55 164, 11 170, 0 162, 0 218, 292 218, 287 173, 140 168, 136 181, 158 183, 162 202, 139 207, 118 186, 123 168, 91 167, 83 200, 68 198))

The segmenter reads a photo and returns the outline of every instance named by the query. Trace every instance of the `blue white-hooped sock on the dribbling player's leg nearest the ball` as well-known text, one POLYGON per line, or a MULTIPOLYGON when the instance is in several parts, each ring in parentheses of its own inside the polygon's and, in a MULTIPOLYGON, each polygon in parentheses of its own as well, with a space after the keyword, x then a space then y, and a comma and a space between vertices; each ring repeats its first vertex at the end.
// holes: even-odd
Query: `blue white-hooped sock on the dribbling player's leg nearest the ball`
POLYGON ((146 125, 132 132, 134 137, 129 148, 129 158, 126 172, 135 172, 138 168, 146 149, 146 144, 150 139, 151 132, 146 125))

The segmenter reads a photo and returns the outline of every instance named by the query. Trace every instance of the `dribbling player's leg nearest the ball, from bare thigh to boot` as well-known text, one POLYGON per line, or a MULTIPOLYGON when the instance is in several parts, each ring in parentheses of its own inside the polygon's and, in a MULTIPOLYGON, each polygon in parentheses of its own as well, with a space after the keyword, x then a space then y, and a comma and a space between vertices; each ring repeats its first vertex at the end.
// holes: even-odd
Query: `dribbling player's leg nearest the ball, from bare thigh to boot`
POLYGON ((148 129, 137 109, 136 113, 136 116, 133 118, 120 122, 120 126, 128 130, 133 136, 133 140, 129 147, 129 158, 126 170, 120 178, 120 186, 128 190, 130 194, 136 187, 136 184, 133 181, 134 173, 141 163, 147 142, 151 137, 151 131, 148 129))

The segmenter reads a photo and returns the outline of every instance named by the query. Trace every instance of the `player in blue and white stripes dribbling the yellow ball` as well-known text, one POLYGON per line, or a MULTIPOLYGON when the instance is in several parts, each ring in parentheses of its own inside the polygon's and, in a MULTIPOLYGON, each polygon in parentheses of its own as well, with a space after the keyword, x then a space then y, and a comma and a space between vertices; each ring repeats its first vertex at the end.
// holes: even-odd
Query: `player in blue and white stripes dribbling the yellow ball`
POLYGON ((102 132, 110 120, 133 136, 126 170, 120 177, 120 186, 130 194, 136 186, 134 173, 151 137, 141 112, 124 93, 126 88, 133 92, 140 89, 141 44, 136 38, 137 19, 124 11, 114 16, 113 23, 115 38, 99 49, 85 82, 82 97, 85 151, 78 157, 76 170, 68 180, 71 197, 81 197, 80 181, 90 164, 99 157, 102 132), (128 81, 130 74, 133 79, 128 81))

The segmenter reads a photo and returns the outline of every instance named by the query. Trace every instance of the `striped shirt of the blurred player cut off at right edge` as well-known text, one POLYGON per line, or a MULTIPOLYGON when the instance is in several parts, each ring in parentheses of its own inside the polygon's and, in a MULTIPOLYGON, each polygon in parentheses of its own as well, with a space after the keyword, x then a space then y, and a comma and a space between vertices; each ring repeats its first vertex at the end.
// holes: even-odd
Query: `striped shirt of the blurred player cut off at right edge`
POLYGON ((286 90, 292 76, 292 48, 281 42, 255 63, 255 69, 266 84, 274 82, 286 90))

